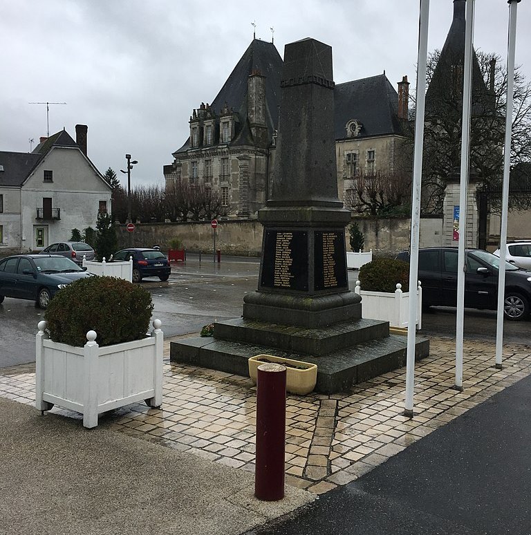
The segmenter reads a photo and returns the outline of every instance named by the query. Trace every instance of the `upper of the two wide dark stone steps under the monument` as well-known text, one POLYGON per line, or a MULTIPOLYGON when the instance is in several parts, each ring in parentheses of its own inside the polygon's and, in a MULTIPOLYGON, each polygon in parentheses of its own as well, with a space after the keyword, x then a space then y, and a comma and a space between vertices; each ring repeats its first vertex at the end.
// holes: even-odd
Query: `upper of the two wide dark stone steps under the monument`
POLYGON ((214 323, 216 339, 259 344, 305 355, 327 355, 366 341, 389 336, 389 322, 374 319, 343 321, 308 328, 236 318, 214 323))

